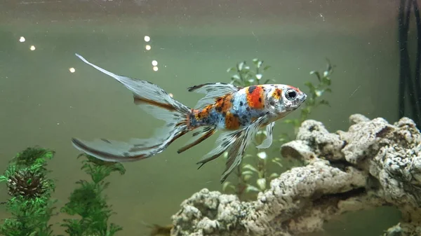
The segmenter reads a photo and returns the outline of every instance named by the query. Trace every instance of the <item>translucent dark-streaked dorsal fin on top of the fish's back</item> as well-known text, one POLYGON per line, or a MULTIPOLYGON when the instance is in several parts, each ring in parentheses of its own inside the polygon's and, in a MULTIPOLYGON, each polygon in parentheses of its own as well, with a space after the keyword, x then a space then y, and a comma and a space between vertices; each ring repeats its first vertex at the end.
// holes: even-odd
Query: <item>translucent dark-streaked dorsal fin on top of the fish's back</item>
POLYGON ((189 92, 199 92, 206 94, 205 97, 200 99, 194 109, 204 109, 210 104, 214 104, 216 99, 223 97, 229 93, 241 90, 241 87, 232 85, 230 83, 203 83, 201 85, 194 85, 187 88, 189 92))

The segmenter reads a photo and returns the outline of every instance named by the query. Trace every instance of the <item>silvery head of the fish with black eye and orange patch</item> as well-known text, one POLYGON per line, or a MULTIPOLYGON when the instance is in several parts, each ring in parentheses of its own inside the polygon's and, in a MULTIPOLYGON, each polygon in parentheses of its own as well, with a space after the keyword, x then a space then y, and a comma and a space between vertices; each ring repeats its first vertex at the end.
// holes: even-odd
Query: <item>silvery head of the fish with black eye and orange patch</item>
POLYGON ((304 92, 290 85, 272 85, 269 92, 270 107, 279 116, 295 111, 306 99, 304 92))

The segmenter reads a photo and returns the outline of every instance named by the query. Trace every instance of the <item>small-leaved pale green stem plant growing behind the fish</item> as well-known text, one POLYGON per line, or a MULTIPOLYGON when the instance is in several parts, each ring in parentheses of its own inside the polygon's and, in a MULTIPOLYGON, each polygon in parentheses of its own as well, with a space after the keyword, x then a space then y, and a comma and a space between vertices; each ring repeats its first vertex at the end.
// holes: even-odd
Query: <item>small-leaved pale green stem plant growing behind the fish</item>
MULTIPOLYGON (((301 123, 308 118, 310 113, 312 113, 316 107, 320 105, 329 105, 329 102, 326 99, 321 99, 321 96, 325 92, 331 92, 329 88, 331 84, 330 74, 332 74, 334 66, 330 64, 328 59, 327 62, 327 68, 323 71, 323 73, 320 73, 319 71, 310 72, 311 75, 314 74, 317 77, 319 83, 314 84, 311 81, 307 81, 305 83, 309 91, 306 92, 307 100, 300 109, 300 116, 295 119, 283 120, 283 123, 293 125, 294 134, 298 132, 298 127, 300 127, 301 123)), ((227 69, 227 72, 235 72, 235 74, 231 76, 230 83, 246 87, 250 85, 265 84, 269 81, 275 82, 273 79, 266 79, 264 83, 261 83, 263 73, 269 68, 270 66, 263 67, 263 61, 255 58, 253 59, 253 68, 250 68, 244 61, 237 63, 236 67, 227 69)), ((256 136, 254 146, 260 144, 266 136, 267 134, 265 130, 259 131, 256 136)), ((281 134, 281 137, 278 139, 281 144, 290 140, 292 140, 292 138, 288 133, 281 134)), ((222 190, 225 192, 234 191, 241 200, 245 200, 245 198, 247 198, 245 197, 247 193, 254 193, 250 195, 250 197, 252 197, 255 196, 256 193, 265 190, 268 183, 279 176, 277 172, 269 174, 268 169, 283 168, 281 162, 282 159, 280 157, 270 158, 267 153, 269 152, 260 151, 258 148, 255 148, 254 155, 246 154, 243 158, 243 163, 237 167, 235 172, 237 179, 236 185, 230 181, 226 181, 222 185, 222 190), (275 165, 275 168, 268 166, 269 163, 271 165, 275 165), (255 183, 252 183, 253 177, 255 179, 255 183)), ((225 158, 227 158, 227 153, 224 155, 225 158)))

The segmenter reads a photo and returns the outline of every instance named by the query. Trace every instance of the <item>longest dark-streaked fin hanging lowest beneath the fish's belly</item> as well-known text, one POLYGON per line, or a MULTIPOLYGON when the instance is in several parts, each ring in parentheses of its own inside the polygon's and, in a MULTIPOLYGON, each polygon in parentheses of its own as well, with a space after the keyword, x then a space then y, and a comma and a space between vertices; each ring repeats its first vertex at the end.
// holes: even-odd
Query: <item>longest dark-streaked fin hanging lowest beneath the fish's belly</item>
POLYGON ((267 120, 268 113, 265 116, 261 116, 253 123, 245 127, 241 132, 239 132, 238 137, 236 137, 234 144, 229 146, 228 149, 228 158, 225 163, 225 171, 222 173, 220 183, 224 183, 225 179, 231 174, 234 169, 240 165, 241 160, 243 159, 244 153, 246 153, 248 145, 255 138, 255 135, 258 133, 259 128, 267 120))

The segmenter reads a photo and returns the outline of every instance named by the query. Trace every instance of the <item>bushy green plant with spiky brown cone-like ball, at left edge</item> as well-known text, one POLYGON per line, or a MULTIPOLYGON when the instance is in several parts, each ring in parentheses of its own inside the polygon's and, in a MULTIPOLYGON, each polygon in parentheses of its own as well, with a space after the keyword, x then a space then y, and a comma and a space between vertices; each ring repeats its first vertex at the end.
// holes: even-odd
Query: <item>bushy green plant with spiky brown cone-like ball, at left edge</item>
POLYGON ((55 184, 47 176, 46 165, 54 155, 54 151, 45 148, 26 148, 9 162, 0 181, 6 182, 10 195, 5 204, 11 217, 0 225, 1 235, 53 234, 48 221, 54 209, 55 200, 51 199, 51 193, 55 184))

